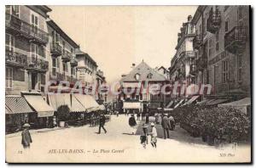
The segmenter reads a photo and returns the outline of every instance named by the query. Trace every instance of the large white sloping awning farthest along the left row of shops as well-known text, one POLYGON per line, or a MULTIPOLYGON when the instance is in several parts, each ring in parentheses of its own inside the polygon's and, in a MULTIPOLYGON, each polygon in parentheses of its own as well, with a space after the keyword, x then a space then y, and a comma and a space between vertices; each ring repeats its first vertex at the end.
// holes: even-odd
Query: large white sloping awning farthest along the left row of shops
POLYGON ((99 104, 96 103, 96 100, 90 95, 84 94, 73 94, 75 98, 79 101, 80 104, 84 106, 87 111, 96 110, 95 108, 99 107, 99 104))

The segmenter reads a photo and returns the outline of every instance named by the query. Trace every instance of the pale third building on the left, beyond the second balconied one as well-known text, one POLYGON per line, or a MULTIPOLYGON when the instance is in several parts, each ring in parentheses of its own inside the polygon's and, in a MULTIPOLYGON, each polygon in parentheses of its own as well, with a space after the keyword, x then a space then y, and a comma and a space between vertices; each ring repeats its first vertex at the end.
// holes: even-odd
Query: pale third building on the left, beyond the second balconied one
POLYGON ((83 87, 88 87, 90 84, 96 82, 96 61, 92 59, 88 53, 81 51, 80 48, 76 48, 75 54, 78 60, 78 79, 82 82, 83 87))

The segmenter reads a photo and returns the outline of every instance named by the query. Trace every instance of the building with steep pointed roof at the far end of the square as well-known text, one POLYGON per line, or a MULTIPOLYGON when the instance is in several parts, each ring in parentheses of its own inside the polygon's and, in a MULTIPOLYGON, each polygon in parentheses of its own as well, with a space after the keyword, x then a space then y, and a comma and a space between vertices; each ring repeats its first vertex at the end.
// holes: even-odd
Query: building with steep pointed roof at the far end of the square
POLYGON ((160 89, 167 81, 165 76, 152 69, 144 61, 137 66, 133 64, 131 72, 123 75, 120 80, 119 102, 123 104, 122 109, 126 112, 131 112, 131 110, 147 112, 148 109, 166 107, 167 101, 170 100, 166 97, 169 95, 162 92, 153 94, 150 92, 150 86, 159 85, 160 89))

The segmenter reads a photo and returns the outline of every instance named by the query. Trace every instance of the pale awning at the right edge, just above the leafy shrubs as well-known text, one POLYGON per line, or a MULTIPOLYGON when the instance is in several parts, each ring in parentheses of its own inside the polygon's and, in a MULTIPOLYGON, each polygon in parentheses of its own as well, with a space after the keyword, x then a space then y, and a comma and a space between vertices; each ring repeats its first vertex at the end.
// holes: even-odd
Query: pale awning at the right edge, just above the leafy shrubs
POLYGON ((251 98, 243 98, 235 102, 230 102, 227 104, 218 104, 218 107, 228 108, 228 109, 241 109, 243 113, 247 112, 247 106, 251 105, 251 98))

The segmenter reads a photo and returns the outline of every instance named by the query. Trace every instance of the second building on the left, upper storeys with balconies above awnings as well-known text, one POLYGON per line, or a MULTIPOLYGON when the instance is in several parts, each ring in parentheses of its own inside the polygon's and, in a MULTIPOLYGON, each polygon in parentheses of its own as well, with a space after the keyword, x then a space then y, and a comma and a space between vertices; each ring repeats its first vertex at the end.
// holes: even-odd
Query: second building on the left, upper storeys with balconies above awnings
POLYGON ((49 79, 47 81, 69 81, 73 85, 77 81, 78 61, 75 49, 79 45, 61 30, 54 20, 48 20, 49 32, 49 79))

